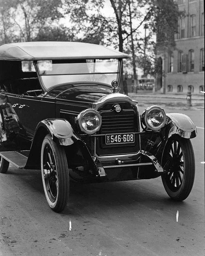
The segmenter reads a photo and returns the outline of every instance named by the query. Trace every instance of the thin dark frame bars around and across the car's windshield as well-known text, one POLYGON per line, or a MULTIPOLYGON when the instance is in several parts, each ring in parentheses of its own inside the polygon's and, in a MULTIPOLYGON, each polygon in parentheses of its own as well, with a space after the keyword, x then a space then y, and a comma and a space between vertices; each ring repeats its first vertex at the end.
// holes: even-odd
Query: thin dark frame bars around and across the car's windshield
MULTIPOLYGON (((88 58, 87 58, 88 59, 88 58)), ((93 59, 93 58, 91 58, 91 59, 93 59)), ((106 60, 106 59, 108 59, 108 58, 100 58, 100 60, 106 60)), ((110 59, 110 58, 109 58, 110 59)), ((118 69, 117 69, 117 72, 96 72, 96 73, 94 73, 94 74, 117 74, 117 79, 116 80, 118 80, 118 83, 120 83, 120 73, 121 73, 121 68, 122 68, 122 58, 111 58, 111 59, 116 59, 116 60, 118 60, 118 69)), ((79 61, 82 61, 82 59, 79 59, 79 61)), ((94 60, 96 60, 96 59, 94 59, 94 60)), ((38 60, 39 61, 39 60, 38 60)), ((45 60, 43 60, 43 61, 45 61, 45 60)), ((62 63, 65 63, 65 61, 71 61, 71 59, 67 59, 67 60, 63 60, 62 61, 62 63)), ((76 61, 76 59, 74 59, 74 61, 76 61)), ((58 87, 58 86, 60 86, 60 85, 62 85, 62 83, 59 83, 59 84, 57 84, 57 85, 53 85, 53 86, 51 86, 51 87, 49 87, 49 88, 47 88, 45 85, 44 85, 44 82, 43 82, 43 80, 42 80, 42 76, 55 76, 55 75, 80 75, 80 74, 92 74, 92 73, 78 73, 78 74, 41 74, 41 72, 40 72, 40 70, 39 70, 39 67, 38 67, 38 63, 37 63, 37 60, 35 60, 34 62, 34 67, 35 67, 35 69, 36 69, 36 73, 37 73, 37 76, 38 76, 38 79, 39 79, 39 81, 40 81, 40 84, 42 85, 42 89, 43 89, 43 91, 44 91, 44 93, 46 93, 46 92, 48 92, 48 91, 50 91, 51 89, 53 89, 53 88, 55 88, 55 87, 58 87)), ((59 63, 61 63, 61 61, 59 61, 59 63)), ((107 86, 110 86, 110 87, 112 87, 112 85, 111 84, 108 84, 108 83, 102 83, 102 82, 88 82, 88 81, 79 81, 79 82, 67 82, 67 84, 81 84, 81 85, 83 85, 83 83, 84 84, 92 84, 92 85, 94 85, 94 84, 96 84, 96 85, 98 85, 98 84, 103 84, 103 85, 107 85, 107 86)), ((66 84, 66 83, 65 83, 66 84)))

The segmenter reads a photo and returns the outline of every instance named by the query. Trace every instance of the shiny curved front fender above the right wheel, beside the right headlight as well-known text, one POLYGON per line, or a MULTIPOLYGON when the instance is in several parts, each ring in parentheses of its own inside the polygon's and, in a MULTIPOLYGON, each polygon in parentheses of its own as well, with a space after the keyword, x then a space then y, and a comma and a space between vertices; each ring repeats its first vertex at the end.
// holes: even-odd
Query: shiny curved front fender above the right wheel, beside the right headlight
POLYGON ((194 122, 185 114, 181 113, 168 113, 166 121, 166 135, 170 138, 174 134, 186 139, 196 137, 197 131, 194 122))

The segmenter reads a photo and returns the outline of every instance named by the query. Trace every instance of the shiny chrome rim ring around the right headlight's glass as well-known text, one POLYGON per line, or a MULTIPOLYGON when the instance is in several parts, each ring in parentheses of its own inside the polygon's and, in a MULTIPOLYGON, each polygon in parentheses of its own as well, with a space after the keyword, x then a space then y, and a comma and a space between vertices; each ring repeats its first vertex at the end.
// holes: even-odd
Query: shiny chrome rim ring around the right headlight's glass
POLYGON ((142 122, 143 122, 143 124, 146 126, 146 128, 148 128, 149 130, 152 130, 152 131, 154 131, 154 132, 159 131, 161 128, 163 128, 163 127, 165 126, 165 123, 166 123, 166 114, 165 114, 164 109, 161 108, 161 107, 159 107, 159 106, 151 106, 151 107, 149 107, 149 108, 146 108, 146 109, 143 111, 143 113, 142 113, 142 122), (159 126, 157 126, 157 127, 152 127, 152 126, 150 126, 149 123, 148 123, 148 121, 147 121, 147 120, 148 120, 147 117, 148 117, 149 113, 150 113, 153 109, 160 110, 160 111, 162 112, 162 114, 163 114, 163 117, 164 117, 163 122, 162 122, 159 126))

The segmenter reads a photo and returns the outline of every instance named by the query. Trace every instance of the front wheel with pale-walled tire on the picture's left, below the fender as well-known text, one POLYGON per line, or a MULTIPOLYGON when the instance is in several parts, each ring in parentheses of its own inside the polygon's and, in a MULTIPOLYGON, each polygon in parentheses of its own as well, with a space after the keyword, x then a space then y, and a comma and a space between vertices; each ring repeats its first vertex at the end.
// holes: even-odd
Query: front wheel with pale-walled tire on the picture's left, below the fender
POLYGON ((41 149, 41 173, 46 200, 55 212, 62 211, 69 198, 69 171, 65 150, 47 134, 41 149))

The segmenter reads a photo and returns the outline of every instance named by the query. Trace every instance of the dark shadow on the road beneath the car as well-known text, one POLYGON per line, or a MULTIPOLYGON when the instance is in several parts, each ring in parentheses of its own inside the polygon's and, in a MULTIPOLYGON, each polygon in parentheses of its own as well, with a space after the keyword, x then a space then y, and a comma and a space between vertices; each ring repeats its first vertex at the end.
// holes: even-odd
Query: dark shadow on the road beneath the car
MULTIPOLYGON (((45 201, 41 172, 38 170, 9 170, 6 175, 15 176, 21 186, 27 187, 31 194, 38 193, 45 201)), ((124 182, 105 182, 78 184, 70 182, 69 202, 63 215, 75 216, 83 209, 93 209, 97 214, 120 208, 173 209, 186 206, 186 202, 177 202, 166 194, 160 178, 152 180, 132 180, 124 182)))

